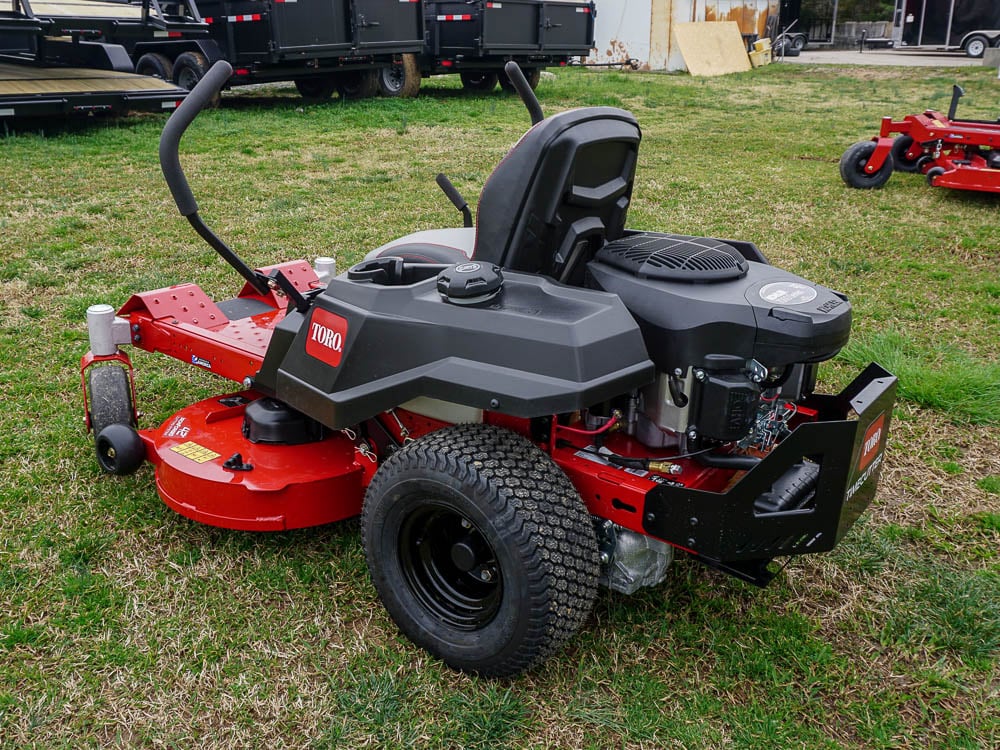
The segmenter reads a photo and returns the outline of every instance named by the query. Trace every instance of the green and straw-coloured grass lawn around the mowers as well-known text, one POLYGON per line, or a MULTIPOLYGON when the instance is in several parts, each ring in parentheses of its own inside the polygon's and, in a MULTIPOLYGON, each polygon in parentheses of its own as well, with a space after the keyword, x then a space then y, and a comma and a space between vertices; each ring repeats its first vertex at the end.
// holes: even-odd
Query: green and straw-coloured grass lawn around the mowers
MULTIPOLYGON (((827 390, 900 376, 875 503, 833 553, 760 591, 679 560, 602 592, 569 648, 497 682, 404 640, 356 523, 254 535, 198 525, 151 469, 102 475, 82 427, 88 305, 241 281, 174 210, 163 118, 0 133, 0 746, 989 748, 1000 741, 1000 196, 897 174, 850 190, 840 154, 901 118, 996 118, 990 69, 772 65, 717 79, 562 70, 547 112, 633 111, 629 225, 751 240, 847 293, 827 390)), ((306 105, 234 92, 185 136, 205 220, 251 265, 460 221, 527 127, 499 92, 306 105)), ((143 424, 228 388, 135 354, 143 424)))

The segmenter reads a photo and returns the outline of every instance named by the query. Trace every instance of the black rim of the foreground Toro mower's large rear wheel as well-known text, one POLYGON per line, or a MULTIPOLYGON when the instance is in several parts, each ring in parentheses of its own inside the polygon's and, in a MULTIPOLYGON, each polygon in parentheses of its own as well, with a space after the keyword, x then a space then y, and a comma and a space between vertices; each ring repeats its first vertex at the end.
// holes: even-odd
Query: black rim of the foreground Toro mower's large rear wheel
POLYGON ((457 511, 424 505, 410 513, 400 529, 399 557, 414 596, 442 623, 478 630, 500 609, 503 577, 496 553, 457 511))

